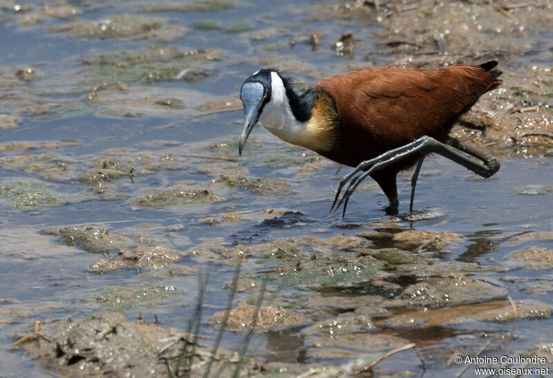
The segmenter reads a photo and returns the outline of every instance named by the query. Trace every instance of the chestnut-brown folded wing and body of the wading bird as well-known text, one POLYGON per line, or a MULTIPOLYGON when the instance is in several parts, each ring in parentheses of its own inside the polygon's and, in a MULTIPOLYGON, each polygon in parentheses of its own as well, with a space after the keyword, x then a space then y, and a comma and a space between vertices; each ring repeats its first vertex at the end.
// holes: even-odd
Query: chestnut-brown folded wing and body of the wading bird
POLYGON ((500 72, 488 72, 494 66, 366 68, 327 77, 315 86, 335 101, 341 152, 347 150, 348 160, 357 160, 352 155, 357 151, 363 160, 422 135, 443 142, 458 117, 500 84, 495 80, 500 72))

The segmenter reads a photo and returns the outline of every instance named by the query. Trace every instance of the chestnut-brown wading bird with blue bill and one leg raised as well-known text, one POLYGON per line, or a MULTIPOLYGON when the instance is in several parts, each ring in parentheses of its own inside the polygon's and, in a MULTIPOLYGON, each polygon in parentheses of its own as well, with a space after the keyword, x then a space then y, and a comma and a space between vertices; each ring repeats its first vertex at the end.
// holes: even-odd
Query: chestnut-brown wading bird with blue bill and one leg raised
POLYGON ((397 173, 416 165, 409 205, 413 211, 420 168, 430 153, 443 155, 484 178, 499 170, 497 158, 449 135, 480 96, 503 83, 498 79, 502 72, 494 70, 497 65, 490 61, 438 68, 362 68, 326 77, 301 95, 287 75, 263 68, 240 89, 244 126, 238 153, 242 155, 259 122, 285 142, 355 167, 341 178, 330 209, 336 211, 343 204, 342 216, 353 191, 367 176, 388 197, 386 214, 398 214, 397 173))

